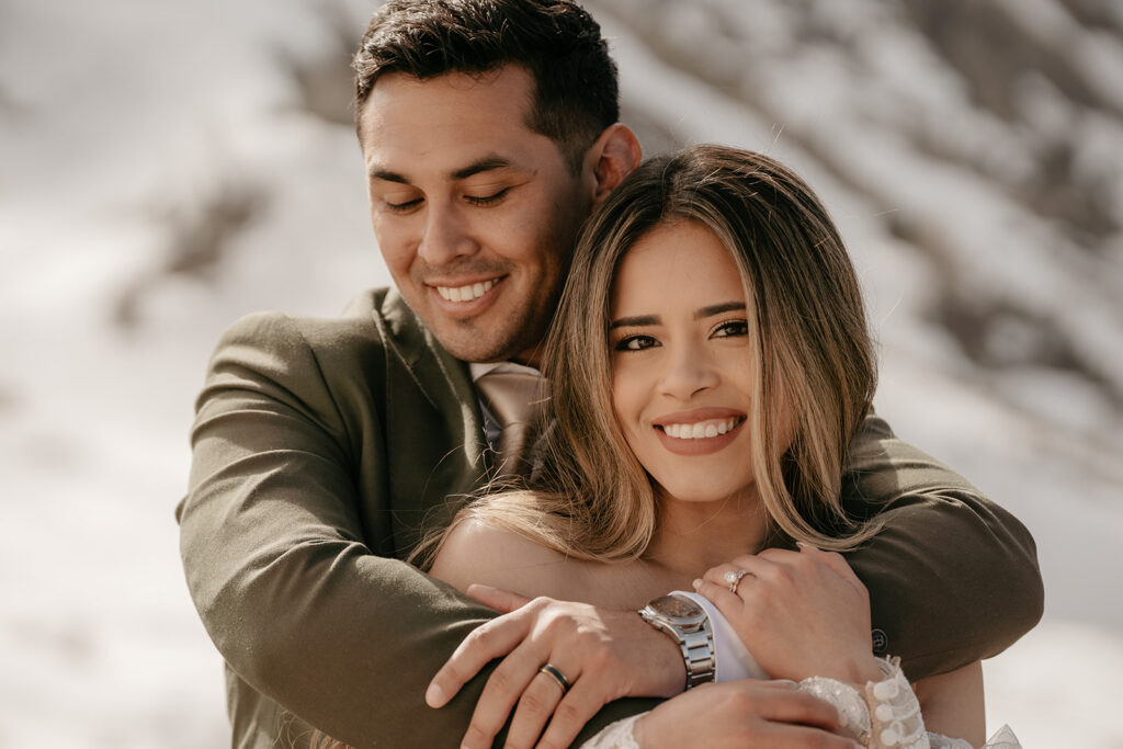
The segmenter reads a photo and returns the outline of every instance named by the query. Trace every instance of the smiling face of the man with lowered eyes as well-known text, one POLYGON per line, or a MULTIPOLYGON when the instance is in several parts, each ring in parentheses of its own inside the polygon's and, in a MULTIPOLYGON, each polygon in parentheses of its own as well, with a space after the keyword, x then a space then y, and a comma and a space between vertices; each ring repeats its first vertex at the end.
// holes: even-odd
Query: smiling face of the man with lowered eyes
POLYGON ((537 362, 592 205, 592 177, 526 125, 532 86, 518 66, 391 73, 362 110, 378 247, 409 305, 468 362, 537 362))

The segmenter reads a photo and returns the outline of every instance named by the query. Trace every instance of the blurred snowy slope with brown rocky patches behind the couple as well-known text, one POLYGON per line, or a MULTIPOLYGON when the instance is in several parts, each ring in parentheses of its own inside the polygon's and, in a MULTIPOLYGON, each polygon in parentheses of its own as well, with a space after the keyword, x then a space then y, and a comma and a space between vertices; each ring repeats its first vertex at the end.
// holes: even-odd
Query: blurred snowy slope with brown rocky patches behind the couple
MULTIPOLYGON (((599 0, 651 154, 820 191, 877 407, 1034 532, 993 730, 1123 747, 1123 3, 599 0)), ((348 109, 358 0, 0 0, 0 747, 221 747, 173 506, 220 331, 386 283, 348 109)))

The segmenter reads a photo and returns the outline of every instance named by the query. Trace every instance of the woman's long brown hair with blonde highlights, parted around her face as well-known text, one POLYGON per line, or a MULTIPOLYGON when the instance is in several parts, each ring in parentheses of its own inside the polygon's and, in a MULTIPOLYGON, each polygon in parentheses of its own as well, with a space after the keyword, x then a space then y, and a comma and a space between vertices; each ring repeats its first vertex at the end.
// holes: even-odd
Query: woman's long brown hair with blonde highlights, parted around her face
POLYGON ((847 446, 877 378, 853 266, 803 180, 767 156, 722 146, 646 162, 588 220, 544 354, 556 418, 545 469, 530 491, 483 496, 457 521, 483 518, 583 559, 647 549, 656 501, 614 418, 610 302, 624 254, 655 227, 682 220, 721 239, 745 286, 760 373, 748 457, 770 535, 846 550, 876 532, 839 503, 847 446))

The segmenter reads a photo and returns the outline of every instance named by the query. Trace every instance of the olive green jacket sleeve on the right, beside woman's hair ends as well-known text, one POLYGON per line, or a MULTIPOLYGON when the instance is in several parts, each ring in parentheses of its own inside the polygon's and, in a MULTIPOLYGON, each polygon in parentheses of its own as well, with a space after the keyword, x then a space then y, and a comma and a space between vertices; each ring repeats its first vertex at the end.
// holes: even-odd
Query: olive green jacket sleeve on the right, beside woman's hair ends
POLYGON ((869 588, 875 651, 909 678, 997 655, 1041 618, 1025 527, 876 415, 851 444, 842 501, 883 523, 847 560, 869 588))

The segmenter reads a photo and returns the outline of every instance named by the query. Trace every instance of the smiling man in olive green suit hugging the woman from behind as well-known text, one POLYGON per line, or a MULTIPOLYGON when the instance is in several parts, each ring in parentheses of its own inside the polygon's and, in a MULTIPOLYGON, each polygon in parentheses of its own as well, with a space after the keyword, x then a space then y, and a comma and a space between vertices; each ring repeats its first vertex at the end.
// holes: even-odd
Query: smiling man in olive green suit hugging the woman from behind
MULTIPOLYGON (((424 694, 494 611, 402 559, 496 463, 502 423, 469 363, 537 363, 582 220, 640 159, 600 29, 569 0, 392 0, 355 68, 398 291, 339 319, 235 325, 198 401, 177 511, 238 747, 300 746, 310 725, 359 747, 464 734, 487 673, 440 710, 424 694)), ((1016 520, 876 418, 852 453, 843 501, 885 522, 849 557, 876 646, 916 678, 1035 623, 1040 576, 1016 520)), ((651 672, 677 663, 682 678, 670 639, 634 613, 613 621, 659 654, 651 672)), ((590 730, 648 704, 613 703, 590 730)))

